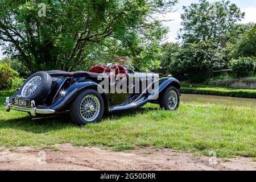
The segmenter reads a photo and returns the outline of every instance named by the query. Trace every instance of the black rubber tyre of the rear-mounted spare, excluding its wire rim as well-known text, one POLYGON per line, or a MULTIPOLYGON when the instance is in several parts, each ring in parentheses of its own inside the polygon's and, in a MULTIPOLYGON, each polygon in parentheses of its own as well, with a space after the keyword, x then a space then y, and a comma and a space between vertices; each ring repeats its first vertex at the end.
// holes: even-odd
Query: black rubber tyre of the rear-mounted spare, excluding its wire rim
POLYGON ((23 85, 20 87, 18 94, 22 95, 22 89, 27 84, 28 81, 30 81, 33 77, 39 76, 41 77, 41 83, 38 86, 38 88, 35 90, 34 93, 31 94, 31 96, 23 97, 27 100, 34 100, 36 103, 42 102, 44 98, 46 98, 47 94, 51 92, 51 86, 52 86, 52 77, 47 72, 37 72, 31 75, 27 78, 27 80, 23 83, 23 85))

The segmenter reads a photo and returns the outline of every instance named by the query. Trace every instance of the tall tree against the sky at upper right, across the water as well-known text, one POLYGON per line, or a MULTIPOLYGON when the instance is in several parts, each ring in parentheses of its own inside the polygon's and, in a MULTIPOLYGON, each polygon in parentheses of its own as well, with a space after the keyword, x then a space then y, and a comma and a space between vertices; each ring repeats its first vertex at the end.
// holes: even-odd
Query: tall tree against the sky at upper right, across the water
POLYGON ((212 4, 207 0, 200 0, 199 3, 184 6, 183 9, 183 28, 180 30, 179 38, 185 43, 209 40, 222 48, 226 47, 233 36, 237 36, 237 22, 245 16, 245 13, 230 1, 212 4))

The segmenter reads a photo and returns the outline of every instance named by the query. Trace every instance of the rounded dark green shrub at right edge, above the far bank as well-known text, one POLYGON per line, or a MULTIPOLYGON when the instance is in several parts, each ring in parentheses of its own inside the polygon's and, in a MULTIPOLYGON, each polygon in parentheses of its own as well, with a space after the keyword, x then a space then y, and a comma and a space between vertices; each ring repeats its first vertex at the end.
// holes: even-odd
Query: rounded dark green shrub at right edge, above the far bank
POLYGON ((232 75, 235 77, 247 77, 254 73, 255 61, 250 57, 240 57, 233 59, 229 63, 229 68, 232 69, 232 75))

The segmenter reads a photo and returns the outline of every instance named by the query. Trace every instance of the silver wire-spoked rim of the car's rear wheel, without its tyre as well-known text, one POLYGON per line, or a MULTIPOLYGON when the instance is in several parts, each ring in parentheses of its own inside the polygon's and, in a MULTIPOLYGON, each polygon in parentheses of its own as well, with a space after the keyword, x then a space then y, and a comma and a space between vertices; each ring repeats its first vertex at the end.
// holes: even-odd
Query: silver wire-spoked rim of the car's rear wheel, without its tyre
POLYGON ((100 114, 100 101, 94 95, 85 96, 80 104, 81 117, 88 122, 94 121, 100 114))

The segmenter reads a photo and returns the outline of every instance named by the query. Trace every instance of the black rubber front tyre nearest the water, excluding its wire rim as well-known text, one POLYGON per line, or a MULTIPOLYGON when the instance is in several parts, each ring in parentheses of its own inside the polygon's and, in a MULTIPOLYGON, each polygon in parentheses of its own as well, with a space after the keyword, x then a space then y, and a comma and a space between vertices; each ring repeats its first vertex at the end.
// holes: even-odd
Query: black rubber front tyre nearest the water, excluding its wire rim
POLYGON ((161 109, 165 109, 165 110, 176 110, 179 108, 179 104, 180 104, 180 93, 179 90, 177 90, 177 88, 175 86, 169 86, 166 90, 164 90, 163 94, 160 95, 159 98, 159 105, 161 109), (174 91, 176 93, 176 101, 174 106, 172 108, 170 108, 167 104, 167 96, 168 94, 174 91))

